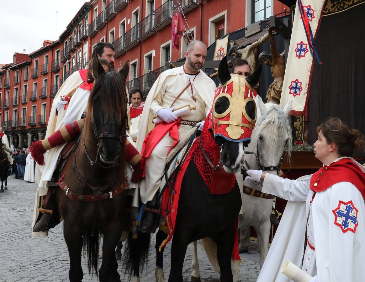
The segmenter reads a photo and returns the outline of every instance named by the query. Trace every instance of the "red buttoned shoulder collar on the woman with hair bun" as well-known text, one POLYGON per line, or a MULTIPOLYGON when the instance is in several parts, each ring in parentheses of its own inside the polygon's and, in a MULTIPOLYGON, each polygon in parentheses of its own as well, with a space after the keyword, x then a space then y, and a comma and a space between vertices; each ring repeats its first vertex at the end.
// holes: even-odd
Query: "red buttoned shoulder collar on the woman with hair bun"
POLYGON ((356 186, 365 200, 365 174, 349 158, 340 159, 320 168, 312 175, 310 189, 314 192, 323 192, 339 182, 350 182, 356 186))

